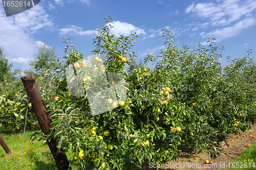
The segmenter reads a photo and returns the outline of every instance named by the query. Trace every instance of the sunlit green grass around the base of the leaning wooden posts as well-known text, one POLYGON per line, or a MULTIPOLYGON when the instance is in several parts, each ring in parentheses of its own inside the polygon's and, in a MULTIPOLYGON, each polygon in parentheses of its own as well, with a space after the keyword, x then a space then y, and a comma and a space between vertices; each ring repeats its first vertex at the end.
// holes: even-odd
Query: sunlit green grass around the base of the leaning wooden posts
MULTIPOLYGON (((42 145, 41 142, 34 142, 31 144, 30 136, 34 132, 35 131, 26 129, 22 164, 20 166, 20 169, 57 169, 54 158, 47 144, 41 147, 39 147, 40 145, 42 145)), ((19 169, 20 156, 22 152, 23 133, 19 133, 19 131, 15 132, 0 130, 0 134, 12 152, 11 154, 7 155, 4 149, 0 147, 0 169, 19 169)), ((72 153, 68 152, 66 153, 66 155, 68 159, 71 160, 72 153)), ((74 167, 72 168, 75 169, 74 167)))

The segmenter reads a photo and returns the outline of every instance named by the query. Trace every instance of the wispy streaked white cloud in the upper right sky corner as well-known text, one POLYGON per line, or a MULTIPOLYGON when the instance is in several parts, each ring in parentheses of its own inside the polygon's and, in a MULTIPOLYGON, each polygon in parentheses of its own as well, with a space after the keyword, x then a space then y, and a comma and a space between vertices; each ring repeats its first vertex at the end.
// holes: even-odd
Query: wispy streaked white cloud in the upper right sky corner
POLYGON ((197 22, 192 31, 204 29, 200 30, 202 38, 211 37, 223 40, 236 36, 242 30, 256 25, 256 17, 252 14, 255 11, 255 0, 219 0, 217 3, 193 3, 186 8, 185 13, 191 13, 191 18, 207 19, 207 22, 197 22), (205 30, 209 26, 217 27, 218 29, 205 30))

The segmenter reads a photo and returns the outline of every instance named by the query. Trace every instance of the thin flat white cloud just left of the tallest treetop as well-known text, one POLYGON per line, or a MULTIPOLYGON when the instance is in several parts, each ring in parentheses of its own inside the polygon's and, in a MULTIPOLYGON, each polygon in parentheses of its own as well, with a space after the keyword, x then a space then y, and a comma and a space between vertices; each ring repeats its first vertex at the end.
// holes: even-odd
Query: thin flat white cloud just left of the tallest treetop
POLYGON ((69 35, 98 35, 98 31, 96 30, 88 30, 88 31, 82 31, 81 27, 77 27, 77 26, 69 26, 68 28, 62 28, 59 29, 60 31, 60 35, 62 34, 69 34, 69 35))

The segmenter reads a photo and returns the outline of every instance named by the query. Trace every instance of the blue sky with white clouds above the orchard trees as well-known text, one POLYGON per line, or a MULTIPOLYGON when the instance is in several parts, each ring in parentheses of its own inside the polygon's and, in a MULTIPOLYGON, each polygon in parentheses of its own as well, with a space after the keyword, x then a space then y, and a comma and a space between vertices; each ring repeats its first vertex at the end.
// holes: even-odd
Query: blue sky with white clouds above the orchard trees
MULTIPOLYGON (((256 49, 256 0, 217 1, 43 1, 23 13, 6 17, 0 3, 0 46, 14 68, 30 68, 28 60, 37 53, 38 45, 55 46, 59 58, 63 38, 71 38, 76 50, 85 57, 94 49, 93 38, 105 25, 104 17, 111 16, 112 33, 130 35, 137 32, 132 51, 136 60, 146 54, 158 55, 164 50, 162 29, 174 32, 174 45, 188 45, 192 50, 198 43, 206 47, 208 38, 216 38, 215 45, 225 46, 220 61, 226 57, 245 57, 248 49, 256 49)), ((250 57, 255 57, 252 53, 250 57)))

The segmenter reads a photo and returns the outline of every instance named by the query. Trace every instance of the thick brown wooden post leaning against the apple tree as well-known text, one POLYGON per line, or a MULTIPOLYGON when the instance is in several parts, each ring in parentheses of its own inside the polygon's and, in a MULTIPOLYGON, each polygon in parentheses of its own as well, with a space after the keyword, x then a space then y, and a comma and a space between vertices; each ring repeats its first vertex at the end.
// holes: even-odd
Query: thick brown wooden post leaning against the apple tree
MULTIPOLYGON (((27 75, 22 78, 23 85, 28 94, 28 98, 32 104, 32 108, 34 110, 35 116, 37 118, 38 124, 42 132, 47 135, 50 132, 50 128, 52 127, 51 122, 52 119, 47 111, 44 100, 42 99, 42 95, 38 89, 36 84, 34 75, 27 75)), ((69 160, 65 153, 63 153, 63 148, 59 151, 56 147, 57 141, 55 139, 51 139, 51 141, 47 140, 49 148, 52 152, 53 158, 59 170, 68 170, 71 169, 69 167, 69 160)))

